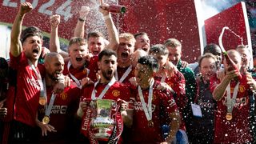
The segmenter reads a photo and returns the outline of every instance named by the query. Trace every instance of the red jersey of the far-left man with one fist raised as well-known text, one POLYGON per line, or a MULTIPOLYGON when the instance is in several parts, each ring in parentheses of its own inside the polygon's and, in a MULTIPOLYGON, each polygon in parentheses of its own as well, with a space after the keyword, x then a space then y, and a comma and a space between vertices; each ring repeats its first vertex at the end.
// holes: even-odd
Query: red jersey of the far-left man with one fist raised
MULTIPOLYGON (((28 59, 24 53, 18 57, 14 57, 10 54, 10 67, 17 70, 17 93, 14 100, 14 119, 29 126, 35 126, 40 96, 38 77, 29 65, 28 59)), ((39 64, 38 67, 40 67, 39 64)), ((39 73, 38 67, 36 67, 36 70, 39 73)), ((41 76, 43 75, 44 74, 41 74, 41 76)))

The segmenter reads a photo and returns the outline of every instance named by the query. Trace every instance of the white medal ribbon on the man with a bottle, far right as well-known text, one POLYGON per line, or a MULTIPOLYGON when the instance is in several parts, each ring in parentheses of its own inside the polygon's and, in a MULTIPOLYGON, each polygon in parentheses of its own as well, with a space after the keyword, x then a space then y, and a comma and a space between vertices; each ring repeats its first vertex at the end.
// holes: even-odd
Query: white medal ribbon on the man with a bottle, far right
POLYGON ((226 99, 226 105, 227 105, 227 112, 228 113, 232 113, 232 110, 234 108, 234 103, 235 103, 235 100, 237 98, 237 95, 238 95, 238 86, 239 86, 239 83, 237 83, 236 86, 234 86, 234 92, 233 92, 233 97, 230 98, 231 96, 231 93, 230 93, 230 84, 226 87, 226 96, 227 96, 227 99, 226 99))

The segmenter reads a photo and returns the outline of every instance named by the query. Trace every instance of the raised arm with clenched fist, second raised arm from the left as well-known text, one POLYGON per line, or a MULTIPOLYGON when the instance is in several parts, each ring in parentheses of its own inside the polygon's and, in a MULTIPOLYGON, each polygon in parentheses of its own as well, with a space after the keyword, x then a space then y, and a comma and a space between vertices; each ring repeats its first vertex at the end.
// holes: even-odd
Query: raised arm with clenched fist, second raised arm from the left
POLYGON ((58 25, 61 22, 61 17, 58 14, 54 14, 50 17, 50 51, 57 52, 62 55, 63 58, 69 56, 66 51, 61 50, 60 42, 58 38, 58 25))

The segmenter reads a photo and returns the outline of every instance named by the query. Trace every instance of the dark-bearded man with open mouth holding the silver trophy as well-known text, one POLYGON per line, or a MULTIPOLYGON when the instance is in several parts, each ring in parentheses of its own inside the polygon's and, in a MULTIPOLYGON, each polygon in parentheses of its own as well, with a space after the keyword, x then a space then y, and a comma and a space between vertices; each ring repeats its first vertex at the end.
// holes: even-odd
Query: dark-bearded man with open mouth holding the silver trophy
MULTIPOLYGON (((113 50, 102 50, 102 52, 98 54, 100 79, 98 82, 95 82, 94 85, 85 87, 78 109, 79 117, 83 116, 86 107, 88 106, 84 100, 112 99, 115 102, 117 102, 118 99, 122 99, 126 102, 130 100, 130 89, 122 83, 117 82, 114 78, 114 72, 117 69, 117 65, 117 54, 113 50)), ((88 137, 90 134, 86 134, 85 136, 88 137)))

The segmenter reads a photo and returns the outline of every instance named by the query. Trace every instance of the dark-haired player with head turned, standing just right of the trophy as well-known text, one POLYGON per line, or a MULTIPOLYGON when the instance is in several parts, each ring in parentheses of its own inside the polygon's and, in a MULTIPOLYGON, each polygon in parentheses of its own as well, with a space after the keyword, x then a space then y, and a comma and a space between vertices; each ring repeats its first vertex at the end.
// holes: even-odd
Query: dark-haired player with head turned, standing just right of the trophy
POLYGON ((178 131, 180 116, 173 94, 158 90, 160 82, 154 81, 158 61, 152 56, 138 59, 135 77, 138 86, 130 98, 134 103, 131 143, 169 143, 178 131), (162 125, 170 126, 166 138, 162 137, 162 125))

